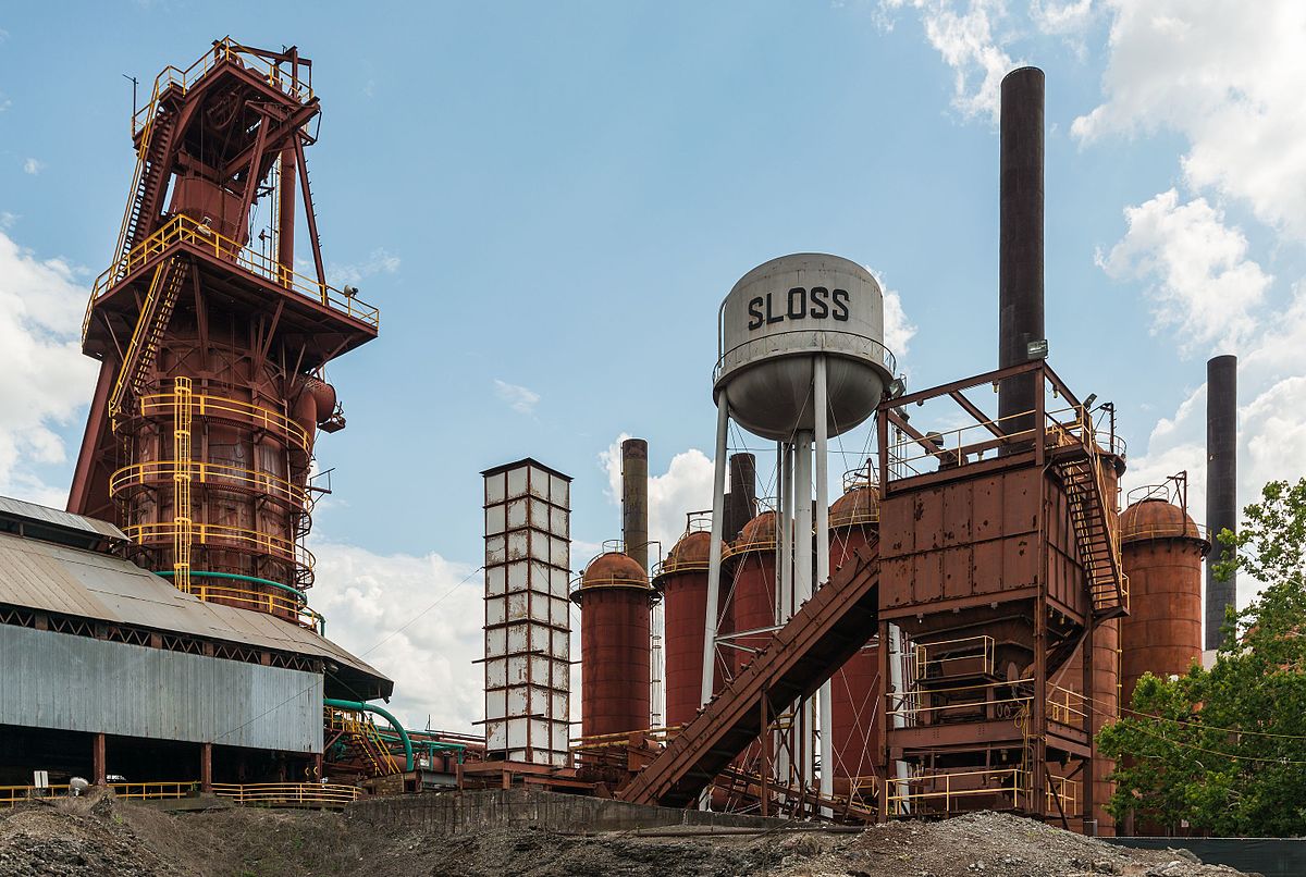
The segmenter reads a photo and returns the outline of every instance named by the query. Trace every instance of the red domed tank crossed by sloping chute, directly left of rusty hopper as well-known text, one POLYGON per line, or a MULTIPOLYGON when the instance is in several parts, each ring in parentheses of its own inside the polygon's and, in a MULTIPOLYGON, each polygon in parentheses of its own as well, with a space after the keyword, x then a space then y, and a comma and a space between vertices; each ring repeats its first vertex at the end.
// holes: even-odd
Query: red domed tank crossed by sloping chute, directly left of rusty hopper
MULTIPOLYGON (((829 506, 829 568, 838 569, 866 544, 878 544, 879 491, 867 479, 848 483, 848 489, 829 506)), ((867 632, 872 633, 872 632, 867 632)), ((855 792, 855 783, 870 792, 878 775, 875 750, 875 697, 879 686, 879 643, 867 642, 831 679, 831 737, 835 749, 835 791, 855 792)))

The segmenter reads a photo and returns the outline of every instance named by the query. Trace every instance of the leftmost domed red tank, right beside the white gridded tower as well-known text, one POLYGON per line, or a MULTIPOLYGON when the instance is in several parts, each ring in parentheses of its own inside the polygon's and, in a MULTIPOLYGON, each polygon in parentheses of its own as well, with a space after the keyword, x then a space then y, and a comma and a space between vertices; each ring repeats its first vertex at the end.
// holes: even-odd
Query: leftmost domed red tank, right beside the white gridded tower
POLYGON ((580 606, 581 735, 648 728, 648 576, 629 556, 609 551, 589 562, 571 599, 580 606))

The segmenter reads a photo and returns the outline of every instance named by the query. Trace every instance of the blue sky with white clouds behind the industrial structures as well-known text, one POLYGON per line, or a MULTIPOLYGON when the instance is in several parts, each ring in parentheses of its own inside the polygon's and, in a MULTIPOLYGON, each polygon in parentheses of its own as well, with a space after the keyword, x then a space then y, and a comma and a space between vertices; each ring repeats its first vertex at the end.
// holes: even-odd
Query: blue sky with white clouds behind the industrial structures
POLYGON ((381 308, 381 337, 329 369, 349 428, 319 445, 336 495, 313 599, 363 650, 449 594, 370 655, 419 724, 477 718, 479 582, 457 586, 479 564, 477 472, 529 454, 572 474, 573 531, 594 544, 619 535, 602 454, 646 437, 671 538, 707 489, 692 452, 712 448, 716 308, 754 265, 815 249, 878 271, 916 388, 995 365, 993 98, 1019 63, 1047 72, 1054 367, 1119 406, 1130 484, 1187 467, 1200 510, 1205 358, 1262 351, 1241 399, 1250 501, 1306 459, 1306 110, 1284 85, 1306 76, 1306 25, 1294 3, 1241 9, 10 7, 0 493, 61 502, 71 478, 93 375, 69 321, 133 162, 120 74, 148 84, 231 34, 315 61, 324 252, 381 308))

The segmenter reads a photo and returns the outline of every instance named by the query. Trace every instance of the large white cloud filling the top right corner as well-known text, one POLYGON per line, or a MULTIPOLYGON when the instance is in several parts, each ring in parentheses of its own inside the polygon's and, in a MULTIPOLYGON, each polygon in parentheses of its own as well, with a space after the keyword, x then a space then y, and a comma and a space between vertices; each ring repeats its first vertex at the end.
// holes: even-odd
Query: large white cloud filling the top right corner
POLYGON ((1245 200, 1306 238, 1306 4, 1109 0, 1106 100, 1075 120, 1085 142, 1171 129, 1190 185, 1245 200))

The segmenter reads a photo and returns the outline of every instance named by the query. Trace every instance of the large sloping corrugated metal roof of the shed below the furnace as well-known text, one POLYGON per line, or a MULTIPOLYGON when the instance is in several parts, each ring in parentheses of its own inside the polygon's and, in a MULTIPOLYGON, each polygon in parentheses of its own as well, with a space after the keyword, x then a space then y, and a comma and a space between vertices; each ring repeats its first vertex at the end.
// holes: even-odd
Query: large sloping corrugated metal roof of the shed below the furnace
POLYGON ((388 697, 393 689, 384 675, 312 630, 263 612, 204 603, 111 555, 0 532, 0 603, 325 658, 354 671, 346 676, 372 677, 368 688, 376 693, 355 690, 359 700, 364 693, 388 697))

